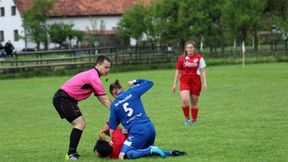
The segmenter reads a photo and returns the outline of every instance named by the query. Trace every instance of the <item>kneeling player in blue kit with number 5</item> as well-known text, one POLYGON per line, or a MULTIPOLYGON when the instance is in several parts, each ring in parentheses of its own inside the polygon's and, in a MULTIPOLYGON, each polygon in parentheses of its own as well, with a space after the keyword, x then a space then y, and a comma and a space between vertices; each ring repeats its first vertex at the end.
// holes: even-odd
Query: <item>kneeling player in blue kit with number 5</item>
POLYGON ((128 85, 130 88, 127 91, 123 91, 119 80, 110 85, 110 93, 115 97, 110 106, 110 135, 113 135, 113 131, 120 123, 128 131, 119 159, 134 159, 151 154, 165 157, 165 151, 153 146, 155 128, 146 115, 140 98, 153 86, 153 82, 137 79, 129 81, 128 85))

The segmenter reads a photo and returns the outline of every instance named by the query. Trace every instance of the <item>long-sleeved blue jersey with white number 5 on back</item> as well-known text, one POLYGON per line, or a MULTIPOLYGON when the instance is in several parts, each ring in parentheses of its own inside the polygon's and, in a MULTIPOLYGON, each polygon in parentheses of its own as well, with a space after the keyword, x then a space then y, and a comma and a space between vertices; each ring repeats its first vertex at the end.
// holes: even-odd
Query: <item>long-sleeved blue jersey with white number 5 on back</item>
POLYGON ((144 79, 137 79, 135 86, 130 87, 127 91, 118 94, 118 97, 112 102, 110 107, 110 129, 116 129, 121 123, 123 127, 130 132, 132 127, 150 123, 147 117, 141 95, 148 91, 153 82, 144 79))

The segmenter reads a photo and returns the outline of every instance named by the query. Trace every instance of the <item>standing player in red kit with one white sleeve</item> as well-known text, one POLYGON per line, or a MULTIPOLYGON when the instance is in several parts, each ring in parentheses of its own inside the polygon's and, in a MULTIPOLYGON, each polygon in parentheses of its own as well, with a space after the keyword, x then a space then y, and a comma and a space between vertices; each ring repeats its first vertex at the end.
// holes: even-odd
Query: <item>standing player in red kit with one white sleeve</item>
POLYGON ((180 82, 180 96, 182 111, 185 116, 185 125, 196 123, 198 116, 198 98, 201 88, 207 89, 206 64, 201 54, 196 51, 196 43, 188 41, 185 44, 185 52, 180 55, 176 65, 176 72, 172 91, 176 91, 177 82, 180 82), (190 121, 190 103, 191 116, 190 121))

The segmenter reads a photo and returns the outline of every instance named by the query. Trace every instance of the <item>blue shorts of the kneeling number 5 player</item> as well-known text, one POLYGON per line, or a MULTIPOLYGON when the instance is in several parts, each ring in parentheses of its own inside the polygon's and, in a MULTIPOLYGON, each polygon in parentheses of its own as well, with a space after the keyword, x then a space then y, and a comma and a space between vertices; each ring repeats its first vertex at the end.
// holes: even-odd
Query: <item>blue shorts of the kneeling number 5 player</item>
POLYGON ((130 150, 143 149, 154 145, 155 136, 155 128, 151 122, 133 126, 128 132, 128 137, 122 146, 121 152, 126 154, 130 150))

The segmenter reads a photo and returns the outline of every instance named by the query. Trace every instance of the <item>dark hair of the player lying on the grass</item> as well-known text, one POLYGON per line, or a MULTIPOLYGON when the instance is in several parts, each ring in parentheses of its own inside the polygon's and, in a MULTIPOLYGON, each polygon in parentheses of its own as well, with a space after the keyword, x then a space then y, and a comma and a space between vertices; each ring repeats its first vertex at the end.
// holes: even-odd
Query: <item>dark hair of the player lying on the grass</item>
POLYGON ((109 144, 108 141, 99 139, 96 142, 93 151, 94 152, 97 151, 99 154, 99 157, 104 158, 104 157, 107 157, 113 153, 113 147, 109 144))

